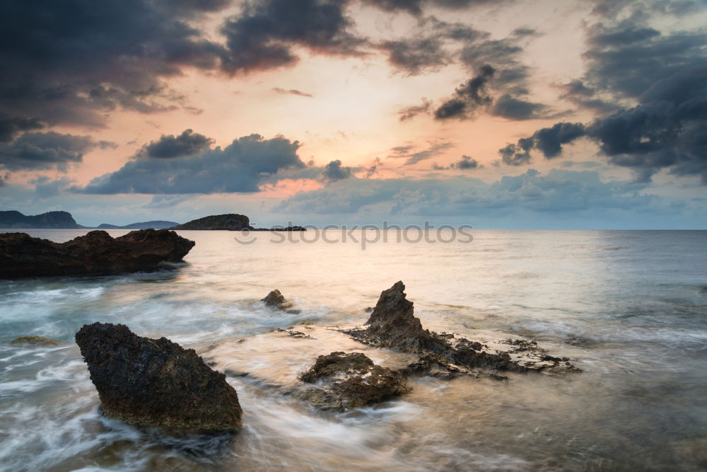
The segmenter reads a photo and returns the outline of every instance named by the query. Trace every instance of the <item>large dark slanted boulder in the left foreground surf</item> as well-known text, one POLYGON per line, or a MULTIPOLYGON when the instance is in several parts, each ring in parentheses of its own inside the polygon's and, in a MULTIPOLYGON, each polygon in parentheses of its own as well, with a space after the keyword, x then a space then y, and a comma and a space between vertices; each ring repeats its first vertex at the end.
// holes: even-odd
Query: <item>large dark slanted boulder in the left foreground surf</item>
POLYGON ((240 429, 238 394, 194 350, 110 323, 84 325, 76 344, 107 418, 186 432, 240 429))

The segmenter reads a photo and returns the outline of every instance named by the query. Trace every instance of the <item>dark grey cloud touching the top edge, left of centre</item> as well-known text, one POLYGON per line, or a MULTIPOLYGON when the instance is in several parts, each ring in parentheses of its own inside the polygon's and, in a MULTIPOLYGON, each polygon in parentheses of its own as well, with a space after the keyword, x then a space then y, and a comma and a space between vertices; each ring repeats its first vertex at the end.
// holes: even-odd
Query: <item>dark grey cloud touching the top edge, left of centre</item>
POLYGON ((348 0, 262 0, 221 28, 228 52, 222 67, 230 74, 291 65, 294 46, 324 54, 361 54, 366 40, 352 32, 348 0))

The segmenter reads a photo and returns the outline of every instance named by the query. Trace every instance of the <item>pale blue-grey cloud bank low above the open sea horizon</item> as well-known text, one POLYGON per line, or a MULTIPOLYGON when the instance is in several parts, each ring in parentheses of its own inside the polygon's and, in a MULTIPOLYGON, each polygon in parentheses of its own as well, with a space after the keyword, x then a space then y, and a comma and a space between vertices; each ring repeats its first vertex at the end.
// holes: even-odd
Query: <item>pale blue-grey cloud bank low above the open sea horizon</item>
POLYGON ((603 182, 595 171, 553 170, 542 174, 531 169, 490 184, 465 176, 421 180, 351 178, 293 195, 274 210, 286 214, 352 214, 378 208, 383 215, 561 215, 648 209, 655 200, 642 195, 641 188, 623 182, 603 182))

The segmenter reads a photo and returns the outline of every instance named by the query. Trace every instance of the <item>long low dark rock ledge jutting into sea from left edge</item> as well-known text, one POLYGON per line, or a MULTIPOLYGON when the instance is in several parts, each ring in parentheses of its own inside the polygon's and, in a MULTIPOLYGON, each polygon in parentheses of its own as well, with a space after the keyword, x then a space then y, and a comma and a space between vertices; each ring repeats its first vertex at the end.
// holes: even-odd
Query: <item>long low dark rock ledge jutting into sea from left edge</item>
POLYGON ((66 243, 4 233, 0 234, 0 278, 156 270, 162 262, 182 260, 194 244, 166 229, 141 229, 118 238, 97 230, 66 243))

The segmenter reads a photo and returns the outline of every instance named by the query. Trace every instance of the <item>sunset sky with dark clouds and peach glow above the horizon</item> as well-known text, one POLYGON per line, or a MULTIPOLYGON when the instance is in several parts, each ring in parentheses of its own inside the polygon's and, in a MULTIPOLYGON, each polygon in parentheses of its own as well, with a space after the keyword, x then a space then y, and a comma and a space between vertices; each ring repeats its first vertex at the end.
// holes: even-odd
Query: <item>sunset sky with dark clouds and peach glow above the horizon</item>
POLYGON ((0 209, 707 229, 706 0, 5 0, 0 209))

